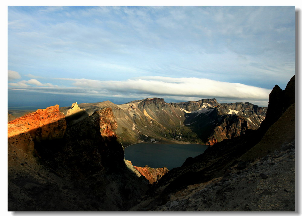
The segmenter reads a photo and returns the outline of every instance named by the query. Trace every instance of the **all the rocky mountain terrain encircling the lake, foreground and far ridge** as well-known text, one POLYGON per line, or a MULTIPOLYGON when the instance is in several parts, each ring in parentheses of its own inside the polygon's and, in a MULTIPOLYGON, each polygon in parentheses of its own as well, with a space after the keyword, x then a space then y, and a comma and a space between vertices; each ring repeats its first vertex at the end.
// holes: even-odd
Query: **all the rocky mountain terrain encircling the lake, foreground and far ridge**
POLYGON ((12 119, 8 211, 295 211, 294 98, 295 77, 267 108, 146 98, 12 119), (136 142, 209 148, 169 171, 125 160, 136 142))

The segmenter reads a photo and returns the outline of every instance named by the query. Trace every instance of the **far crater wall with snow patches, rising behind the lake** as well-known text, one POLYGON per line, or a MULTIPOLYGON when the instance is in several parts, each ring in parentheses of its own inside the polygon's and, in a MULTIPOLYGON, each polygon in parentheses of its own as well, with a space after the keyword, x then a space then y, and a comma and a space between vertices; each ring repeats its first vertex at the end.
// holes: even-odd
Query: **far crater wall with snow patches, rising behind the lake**
MULTIPOLYGON (((89 115, 111 107, 117 119, 117 135, 124 146, 136 142, 200 143, 214 145, 255 130, 267 108, 246 103, 219 104, 214 99, 166 103, 162 98, 146 98, 116 105, 110 101, 83 103, 89 115)), ((60 108, 67 114, 71 107, 60 108)))

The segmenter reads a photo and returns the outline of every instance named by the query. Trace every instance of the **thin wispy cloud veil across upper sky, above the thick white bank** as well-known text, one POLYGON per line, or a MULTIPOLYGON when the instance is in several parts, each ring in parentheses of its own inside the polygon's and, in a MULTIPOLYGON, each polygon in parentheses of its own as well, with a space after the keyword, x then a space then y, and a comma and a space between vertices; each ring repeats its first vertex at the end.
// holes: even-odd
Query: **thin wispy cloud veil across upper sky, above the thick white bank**
POLYGON ((294 6, 12 6, 8 15, 9 64, 55 77, 186 74, 271 88, 295 71, 294 6), (28 27, 13 28, 24 19, 28 27))

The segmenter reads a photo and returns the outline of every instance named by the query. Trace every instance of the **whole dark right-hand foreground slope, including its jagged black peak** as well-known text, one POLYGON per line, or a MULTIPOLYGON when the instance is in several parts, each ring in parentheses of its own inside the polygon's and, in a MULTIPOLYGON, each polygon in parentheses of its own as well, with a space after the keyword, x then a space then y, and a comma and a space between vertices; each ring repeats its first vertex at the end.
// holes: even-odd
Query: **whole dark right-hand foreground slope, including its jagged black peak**
POLYGON ((130 211, 295 211, 295 104, 280 98, 284 92, 294 98, 294 78, 279 97, 274 89, 268 112, 280 118, 272 115, 267 129, 248 131, 188 158, 130 211))

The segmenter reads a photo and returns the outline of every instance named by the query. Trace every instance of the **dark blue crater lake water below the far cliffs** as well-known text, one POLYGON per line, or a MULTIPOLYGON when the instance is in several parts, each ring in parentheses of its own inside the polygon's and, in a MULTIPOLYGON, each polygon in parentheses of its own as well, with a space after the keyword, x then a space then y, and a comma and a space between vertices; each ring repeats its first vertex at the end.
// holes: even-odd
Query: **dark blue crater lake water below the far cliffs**
POLYGON ((137 143, 125 148, 125 159, 133 166, 152 168, 181 167, 188 157, 200 155, 208 148, 200 144, 137 143))

